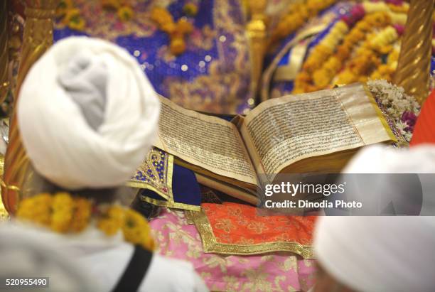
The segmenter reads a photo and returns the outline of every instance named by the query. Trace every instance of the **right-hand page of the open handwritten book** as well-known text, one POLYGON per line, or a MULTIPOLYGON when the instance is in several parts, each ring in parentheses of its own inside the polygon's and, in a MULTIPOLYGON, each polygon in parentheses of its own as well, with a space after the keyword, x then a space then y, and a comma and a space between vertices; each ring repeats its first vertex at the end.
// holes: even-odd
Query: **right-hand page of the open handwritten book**
POLYGON ((241 133, 257 172, 274 175, 304 158, 392 140, 373 102, 359 83, 269 99, 241 133))

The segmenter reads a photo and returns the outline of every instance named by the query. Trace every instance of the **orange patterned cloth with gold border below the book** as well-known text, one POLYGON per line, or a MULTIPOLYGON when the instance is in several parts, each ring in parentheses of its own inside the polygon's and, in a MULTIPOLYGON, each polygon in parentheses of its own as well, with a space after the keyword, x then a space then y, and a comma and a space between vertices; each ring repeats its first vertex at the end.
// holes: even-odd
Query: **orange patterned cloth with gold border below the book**
POLYGON ((316 216, 257 214, 257 208, 235 202, 201 204, 203 212, 190 212, 203 239, 205 252, 264 254, 294 252, 313 258, 312 232, 316 216))

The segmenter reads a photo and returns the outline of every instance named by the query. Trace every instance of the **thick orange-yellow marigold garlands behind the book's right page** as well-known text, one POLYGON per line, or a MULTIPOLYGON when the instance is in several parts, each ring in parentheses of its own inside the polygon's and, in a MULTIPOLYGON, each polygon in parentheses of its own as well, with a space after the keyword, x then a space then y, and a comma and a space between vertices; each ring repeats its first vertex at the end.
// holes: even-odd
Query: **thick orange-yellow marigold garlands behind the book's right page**
POLYGON ((311 50, 301 72, 296 75, 293 92, 312 92, 331 86, 331 82, 348 84, 367 81, 368 77, 391 80, 396 66, 392 45, 402 31, 402 23, 406 21, 402 11, 406 10, 407 6, 382 2, 365 1, 354 6, 311 50), (394 28, 390 26, 378 33, 380 28, 391 23, 394 28), (352 29, 346 35, 349 28, 352 29), (359 48, 355 52, 357 45, 359 48), (352 59, 348 60, 350 57, 352 59))

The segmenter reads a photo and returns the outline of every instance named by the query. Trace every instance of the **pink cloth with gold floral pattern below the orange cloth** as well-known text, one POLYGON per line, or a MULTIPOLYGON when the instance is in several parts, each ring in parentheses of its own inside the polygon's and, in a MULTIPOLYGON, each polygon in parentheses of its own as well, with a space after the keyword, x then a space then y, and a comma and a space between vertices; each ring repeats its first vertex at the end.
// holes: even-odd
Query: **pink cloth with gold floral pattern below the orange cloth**
POLYGON ((308 291, 315 261, 291 253, 256 256, 205 254, 200 234, 183 212, 166 209, 151 220, 159 252, 190 261, 212 291, 308 291))

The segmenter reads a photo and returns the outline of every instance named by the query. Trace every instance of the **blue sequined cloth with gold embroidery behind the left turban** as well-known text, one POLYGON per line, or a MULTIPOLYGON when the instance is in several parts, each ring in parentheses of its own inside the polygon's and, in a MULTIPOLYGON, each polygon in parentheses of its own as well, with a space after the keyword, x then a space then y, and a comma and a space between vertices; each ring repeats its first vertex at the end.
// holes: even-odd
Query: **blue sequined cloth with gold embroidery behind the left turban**
POLYGON ((159 94, 183 107, 206 112, 242 113, 252 103, 249 46, 240 1, 201 0, 186 38, 186 52, 178 57, 168 50, 169 38, 151 21, 154 6, 165 6, 175 21, 185 17, 185 0, 131 0, 134 15, 121 21, 102 1, 75 0, 84 31, 55 23, 54 39, 87 35, 111 40, 137 58, 159 94))

